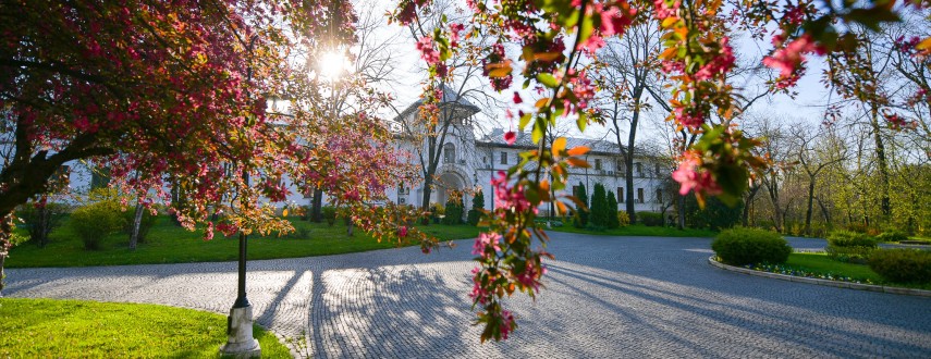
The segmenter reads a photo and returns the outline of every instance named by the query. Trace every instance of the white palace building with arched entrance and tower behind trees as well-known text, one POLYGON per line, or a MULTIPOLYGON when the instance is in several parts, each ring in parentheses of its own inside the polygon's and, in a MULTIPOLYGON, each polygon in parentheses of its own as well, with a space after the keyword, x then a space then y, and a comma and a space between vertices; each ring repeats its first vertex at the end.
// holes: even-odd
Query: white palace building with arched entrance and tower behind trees
MULTIPOLYGON (((504 141, 504 131, 494 129, 491 134, 476 138, 473 128, 474 116, 479 112, 478 107, 471 104, 465 98, 458 98, 451 89, 444 91, 443 102, 440 104, 442 113, 450 116, 450 126, 446 135, 442 138, 442 146, 434 146, 440 150, 439 162, 434 172, 433 189, 430 195, 430 203, 443 205, 448 194, 458 190, 465 194, 463 199, 466 210, 471 206, 469 197, 473 189, 490 188, 492 176, 498 171, 506 171, 518 163, 518 154, 531 150, 535 146, 530 136, 518 134, 514 145, 504 141)), ((413 153, 412 160, 419 163, 418 156, 427 158, 430 147, 428 138, 421 136, 422 131, 417 132, 417 119, 420 101, 412 103, 401 115, 390 122, 392 131, 397 138, 397 148, 413 153)), ((443 123, 443 120, 440 121, 443 123)), ((604 141, 583 138, 567 138, 568 147, 588 146, 591 151, 586 160, 591 165, 589 169, 571 169, 569 186, 576 187, 579 183, 585 185, 591 197, 596 183, 600 183, 605 190, 614 191, 617 196, 618 210, 626 208, 626 201, 635 202, 636 211, 660 211, 662 206, 664 183, 670 178, 670 169, 664 169, 656 157, 635 157, 634 164, 634 196, 623 198, 625 194, 625 170, 617 145, 604 141)), ((439 138, 437 139, 439 144, 439 138)), ((635 154, 636 156, 636 154, 635 154)), ((434 156, 436 157, 436 156, 434 156)), ((89 188, 106 186, 107 178, 100 176, 85 165, 77 162, 69 163, 64 169, 70 180, 70 191, 72 194, 84 194, 89 188)), ((389 189, 389 200, 419 207, 424 197, 424 183, 399 184, 396 188, 389 189)), ((313 200, 308 194, 302 193, 297 186, 291 186, 287 205, 310 206, 313 200)), ((561 194, 556 194, 561 195, 561 194)), ((667 195, 666 195, 667 196, 667 195)), ((326 194, 323 202, 327 202, 326 194)), ((284 205, 282 205, 284 206, 284 205)), ((485 208, 493 209, 493 196, 485 194, 485 208)), ((541 207, 541 214, 548 213, 548 209, 541 207)))

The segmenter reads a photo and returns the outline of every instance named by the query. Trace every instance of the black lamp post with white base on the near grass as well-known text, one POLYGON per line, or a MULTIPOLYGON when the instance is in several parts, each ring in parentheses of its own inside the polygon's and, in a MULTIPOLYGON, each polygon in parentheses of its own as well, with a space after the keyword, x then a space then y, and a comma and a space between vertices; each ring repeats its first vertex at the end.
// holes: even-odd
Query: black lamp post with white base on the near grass
MULTIPOLYGON (((253 52, 256 35, 249 39, 247 51, 253 52)), ((252 83, 253 67, 252 64, 246 69, 246 84, 252 83)), ((248 187, 249 172, 243 168, 243 183, 248 187)), ((248 198, 243 197, 243 201, 248 198)), ((238 285, 236 290, 236 301, 233 302, 233 308, 230 309, 230 317, 226 318, 226 344, 220 347, 220 352, 223 355, 235 356, 237 358, 261 357, 261 347, 258 341, 253 336, 253 307, 249 299, 246 297, 246 245, 248 236, 240 230, 240 261, 238 261, 238 285)))

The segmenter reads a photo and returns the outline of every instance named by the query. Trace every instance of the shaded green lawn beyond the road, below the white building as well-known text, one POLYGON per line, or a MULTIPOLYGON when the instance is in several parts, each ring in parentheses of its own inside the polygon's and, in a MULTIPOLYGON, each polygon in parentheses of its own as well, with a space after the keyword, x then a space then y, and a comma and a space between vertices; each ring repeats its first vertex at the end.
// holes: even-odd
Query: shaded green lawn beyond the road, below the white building
MULTIPOLYGON (((292 221, 298 230, 283 237, 249 237, 248 258, 275 259, 326 256, 397 247, 396 243, 379 243, 356 231, 346 236, 342 221, 333 226, 326 223, 292 221)), ((478 236, 479 228, 469 225, 431 224, 420 227, 440 239, 463 239, 478 236)), ((405 244, 409 245, 409 244, 405 244)), ((160 218, 149 232, 146 243, 136 250, 128 249, 125 234, 114 234, 103 242, 101 250, 88 251, 65 223, 52 232, 45 248, 30 243, 14 247, 7 259, 7 268, 87 267, 151 263, 216 262, 236 260, 238 237, 217 235, 204 240, 203 232, 187 232, 160 218)))

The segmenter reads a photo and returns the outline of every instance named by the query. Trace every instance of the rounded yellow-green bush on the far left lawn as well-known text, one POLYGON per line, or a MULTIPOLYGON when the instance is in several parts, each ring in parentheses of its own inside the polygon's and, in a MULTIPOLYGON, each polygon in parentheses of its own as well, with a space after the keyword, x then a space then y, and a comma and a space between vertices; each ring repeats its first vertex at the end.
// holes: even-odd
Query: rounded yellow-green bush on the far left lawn
POLYGON ((88 250, 100 249, 101 242, 125 225, 120 202, 101 200, 78 207, 71 213, 69 223, 88 250))

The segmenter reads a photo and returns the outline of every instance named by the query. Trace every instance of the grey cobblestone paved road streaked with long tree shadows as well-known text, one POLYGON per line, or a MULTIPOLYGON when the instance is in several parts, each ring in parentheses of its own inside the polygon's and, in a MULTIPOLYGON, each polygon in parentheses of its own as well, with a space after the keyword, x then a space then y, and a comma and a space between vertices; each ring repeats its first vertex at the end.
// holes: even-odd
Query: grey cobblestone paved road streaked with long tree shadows
MULTIPOLYGON (((715 269, 706 238, 554 233, 547 288, 511 301, 520 327, 478 343, 470 243, 249 263, 260 324, 321 358, 931 357, 931 298, 715 269)), ((823 240, 792 238, 796 248, 823 240)), ((226 312, 235 263, 9 270, 10 297, 226 312)))

